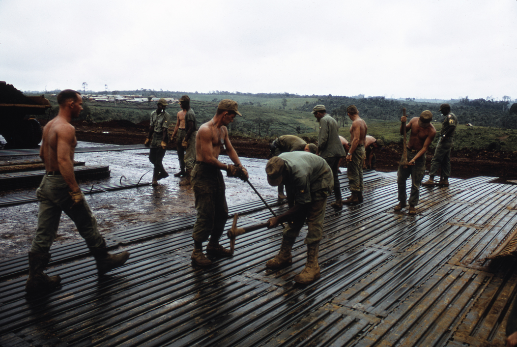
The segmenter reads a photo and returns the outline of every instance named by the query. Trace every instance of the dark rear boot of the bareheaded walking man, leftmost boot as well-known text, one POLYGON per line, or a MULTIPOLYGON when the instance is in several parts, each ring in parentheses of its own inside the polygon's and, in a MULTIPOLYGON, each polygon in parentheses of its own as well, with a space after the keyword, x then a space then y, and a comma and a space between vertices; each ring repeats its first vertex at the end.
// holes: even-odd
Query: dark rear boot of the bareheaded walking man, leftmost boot
POLYGON ((25 283, 27 295, 42 295, 59 286, 59 276, 49 277, 43 273, 50 261, 50 253, 29 252, 29 277, 25 283))

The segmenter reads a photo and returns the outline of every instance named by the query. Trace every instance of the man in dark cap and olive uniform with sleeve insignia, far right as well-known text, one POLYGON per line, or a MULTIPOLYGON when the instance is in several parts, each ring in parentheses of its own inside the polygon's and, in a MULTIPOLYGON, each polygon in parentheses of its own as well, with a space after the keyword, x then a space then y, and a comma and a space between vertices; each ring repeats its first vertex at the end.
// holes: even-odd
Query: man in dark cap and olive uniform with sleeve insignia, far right
POLYGON ((429 170, 429 179, 422 183, 423 186, 434 186, 434 176, 438 169, 442 169, 442 175, 438 182, 438 186, 448 187, 449 177, 451 175, 451 149, 452 137, 454 131, 458 126, 458 118, 451 113, 451 108, 448 103, 444 103, 438 110, 445 116, 442 122, 442 129, 440 130, 440 138, 434 151, 433 159, 431 160, 431 169, 429 170))

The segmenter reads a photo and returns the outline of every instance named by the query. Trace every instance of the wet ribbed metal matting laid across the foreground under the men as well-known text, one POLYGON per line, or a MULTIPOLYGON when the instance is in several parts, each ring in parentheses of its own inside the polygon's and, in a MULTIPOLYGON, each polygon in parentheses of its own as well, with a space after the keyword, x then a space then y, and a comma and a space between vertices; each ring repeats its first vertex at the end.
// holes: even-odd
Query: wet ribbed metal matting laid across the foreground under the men
MULTIPOLYGON (((202 269, 190 261, 195 216, 110 235, 108 246, 131 258, 102 277, 84 243, 54 247, 48 273, 62 286, 36 300, 23 292, 26 257, 7 259, 0 345, 503 345, 515 261, 486 257, 513 232, 517 186, 491 179, 422 187, 412 217, 393 212, 396 173, 366 172, 362 204, 335 212, 329 199, 321 278, 305 286, 293 277, 305 264, 306 228, 287 268, 264 265, 280 247, 276 228, 237 237, 234 257, 202 269)), ((238 227, 270 217, 255 200, 231 208, 238 227)), ((277 213, 287 208, 268 202, 277 213)))

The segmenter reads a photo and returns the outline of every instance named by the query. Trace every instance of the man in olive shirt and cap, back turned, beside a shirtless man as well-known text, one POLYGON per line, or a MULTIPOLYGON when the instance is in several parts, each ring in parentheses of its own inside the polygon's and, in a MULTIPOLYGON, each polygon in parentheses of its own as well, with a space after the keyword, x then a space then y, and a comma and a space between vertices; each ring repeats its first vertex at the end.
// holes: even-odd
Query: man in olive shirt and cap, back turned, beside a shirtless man
POLYGON ((320 123, 317 154, 327 161, 334 177, 334 197, 336 201, 331 205, 336 209, 341 209, 343 208, 343 203, 341 201, 341 186, 338 178, 339 160, 344 157, 346 153, 339 139, 339 125, 336 119, 327 113, 324 105, 316 105, 312 109, 312 114, 314 114, 314 117, 320 123))

